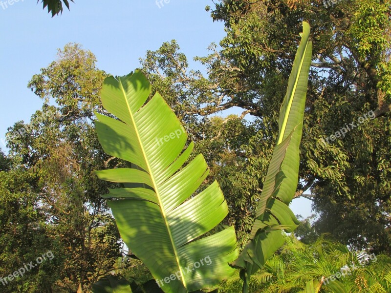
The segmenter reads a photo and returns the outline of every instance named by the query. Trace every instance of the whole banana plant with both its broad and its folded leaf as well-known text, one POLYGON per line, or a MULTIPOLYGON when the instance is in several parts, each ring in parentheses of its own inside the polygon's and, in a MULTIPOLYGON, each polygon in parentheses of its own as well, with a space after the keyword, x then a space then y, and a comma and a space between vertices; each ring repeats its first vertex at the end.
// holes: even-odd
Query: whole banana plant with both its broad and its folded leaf
POLYGON ((96 113, 96 131, 104 151, 129 163, 128 168, 97 171, 98 178, 121 183, 109 189, 108 205, 122 239, 151 271, 166 293, 213 287, 240 268, 248 292, 250 276, 284 242, 282 230, 299 221, 288 208, 297 183, 299 145, 311 62, 309 25, 283 101, 279 137, 263 185, 251 240, 241 252, 233 227, 205 236, 227 215, 217 182, 196 194, 208 175, 201 154, 188 162, 194 144, 159 93, 149 99, 151 84, 137 70, 105 80, 101 99, 117 119, 96 113), (211 261, 202 264, 208 257, 211 261), (195 264, 198 264, 195 266, 195 264), (230 264, 230 265, 229 265, 230 264))

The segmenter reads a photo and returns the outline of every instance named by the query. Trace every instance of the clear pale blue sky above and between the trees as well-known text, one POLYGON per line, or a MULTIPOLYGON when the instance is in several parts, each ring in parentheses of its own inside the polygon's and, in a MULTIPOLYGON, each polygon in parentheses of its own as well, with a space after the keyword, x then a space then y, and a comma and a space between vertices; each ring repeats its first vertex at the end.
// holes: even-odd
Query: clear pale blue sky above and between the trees
MULTIPOLYGON (((41 1, 40 1, 41 2, 41 1)), ((62 16, 47 14, 36 0, 0 2, 0 147, 9 126, 30 116, 42 101, 28 88, 34 74, 56 59, 57 48, 77 42, 95 54, 98 67, 125 75, 139 67, 138 59, 163 42, 176 40, 189 60, 205 56, 211 42, 225 35, 205 6, 211 0, 75 0, 62 16), (168 2, 168 3, 165 3, 168 2), (160 7, 159 7, 160 6, 160 7)), ((310 215, 310 203, 292 203, 295 214, 310 215)))

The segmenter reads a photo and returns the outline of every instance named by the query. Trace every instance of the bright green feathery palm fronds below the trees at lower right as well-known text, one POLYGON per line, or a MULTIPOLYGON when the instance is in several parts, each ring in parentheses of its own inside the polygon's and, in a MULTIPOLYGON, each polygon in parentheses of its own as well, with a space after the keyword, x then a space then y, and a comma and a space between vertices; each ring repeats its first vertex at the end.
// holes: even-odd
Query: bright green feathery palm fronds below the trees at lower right
MULTIPOLYGON (((307 282, 322 278, 325 283, 321 292, 335 292, 327 286, 333 283, 343 286, 346 292, 389 292, 390 262, 391 258, 384 254, 353 253, 329 235, 321 235, 311 244, 303 244, 289 236, 282 249, 252 276, 249 292, 306 292, 307 282), (341 271, 341 268, 344 269, 341 271), (337 278, 331 281, 333 275, 337 278)), ((237 272, 221 283, 219 292, 237 293, 240 285, 237 272)))

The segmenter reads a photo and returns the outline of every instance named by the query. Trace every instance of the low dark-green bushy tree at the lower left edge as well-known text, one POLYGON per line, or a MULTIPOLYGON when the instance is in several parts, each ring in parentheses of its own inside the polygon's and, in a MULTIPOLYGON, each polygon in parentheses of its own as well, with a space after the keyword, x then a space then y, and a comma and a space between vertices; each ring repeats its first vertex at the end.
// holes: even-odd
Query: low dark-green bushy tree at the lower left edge
POLYGON ((61 250, 48 236, 49 218, 40 207, 36 181, 28 170, 0 171, 1 292, 51 292, 61 272, 61 250), (47 251, 54 257, 37 265, 47 251), (25 266, 30 262, 36 267, 25 266), (14 272, 18 278, 9 277, 14 272))

